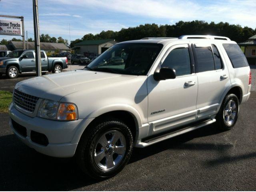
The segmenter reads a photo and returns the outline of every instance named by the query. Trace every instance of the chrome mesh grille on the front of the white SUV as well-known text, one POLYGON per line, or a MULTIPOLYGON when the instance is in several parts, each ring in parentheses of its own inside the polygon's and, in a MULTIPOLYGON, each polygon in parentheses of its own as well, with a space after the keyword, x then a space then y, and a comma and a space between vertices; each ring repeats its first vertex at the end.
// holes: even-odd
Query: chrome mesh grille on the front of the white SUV
POLYGON ((38 102, 38 97, 32 96, 26 93, 22 93, 16 89, 13 92, 13 102, 18 107, 28 111, 34 112, 36 104, 38 102))

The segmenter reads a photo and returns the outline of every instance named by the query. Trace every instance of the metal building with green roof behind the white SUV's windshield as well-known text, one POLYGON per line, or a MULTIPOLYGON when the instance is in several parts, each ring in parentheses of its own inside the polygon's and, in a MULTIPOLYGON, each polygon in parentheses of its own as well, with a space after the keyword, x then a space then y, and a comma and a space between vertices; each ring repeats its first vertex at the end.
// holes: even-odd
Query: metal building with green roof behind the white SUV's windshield
POLYGON ((102 40, 86 40, 80 43, 74 44, 71 48, 75 54, 91 55, 91 54, 102 54, 112 45, 118 43, 114 39, 102 39, 102 40))

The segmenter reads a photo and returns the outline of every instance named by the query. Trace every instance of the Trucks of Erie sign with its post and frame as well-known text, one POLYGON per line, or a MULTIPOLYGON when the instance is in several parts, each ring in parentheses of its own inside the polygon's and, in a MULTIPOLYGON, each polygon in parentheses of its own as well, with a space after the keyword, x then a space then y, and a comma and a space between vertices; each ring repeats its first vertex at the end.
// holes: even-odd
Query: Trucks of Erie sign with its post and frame
POLYGON ((23 49, 25 46, 25 34, 24 34, 24 17, 23 16, 10 16, 10 15, 0 15, 0 17, 5 18, 15 18, 20 19, 21 23, 17 20, 0 20, 0 35, 18 35, 22 36, 23 49))

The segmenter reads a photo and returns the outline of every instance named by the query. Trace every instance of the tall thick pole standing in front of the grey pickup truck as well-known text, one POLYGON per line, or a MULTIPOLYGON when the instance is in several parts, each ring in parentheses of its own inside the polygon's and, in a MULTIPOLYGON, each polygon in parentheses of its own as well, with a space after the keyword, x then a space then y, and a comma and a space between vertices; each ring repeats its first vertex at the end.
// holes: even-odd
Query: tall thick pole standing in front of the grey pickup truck
POLYGON ((40 34, 38 25, 38 0, 33 0, 33 17, 34 17, 34 37, 36 53, 36 76, 42 76, 41 54, 40 54, 40 34))

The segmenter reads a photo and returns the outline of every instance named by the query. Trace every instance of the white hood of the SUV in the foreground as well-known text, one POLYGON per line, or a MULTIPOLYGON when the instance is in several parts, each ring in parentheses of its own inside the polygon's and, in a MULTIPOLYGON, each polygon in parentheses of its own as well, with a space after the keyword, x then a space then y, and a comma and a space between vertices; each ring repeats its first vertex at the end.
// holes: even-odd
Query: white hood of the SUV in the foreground
POLYGON ((73 70, 24 80, 17 83, 15 88, 39 98, 59 101, 62 97, 74 92, 95 88, 99 85, 108 86, 115 82, 136 77, 106 72, 73 70))

